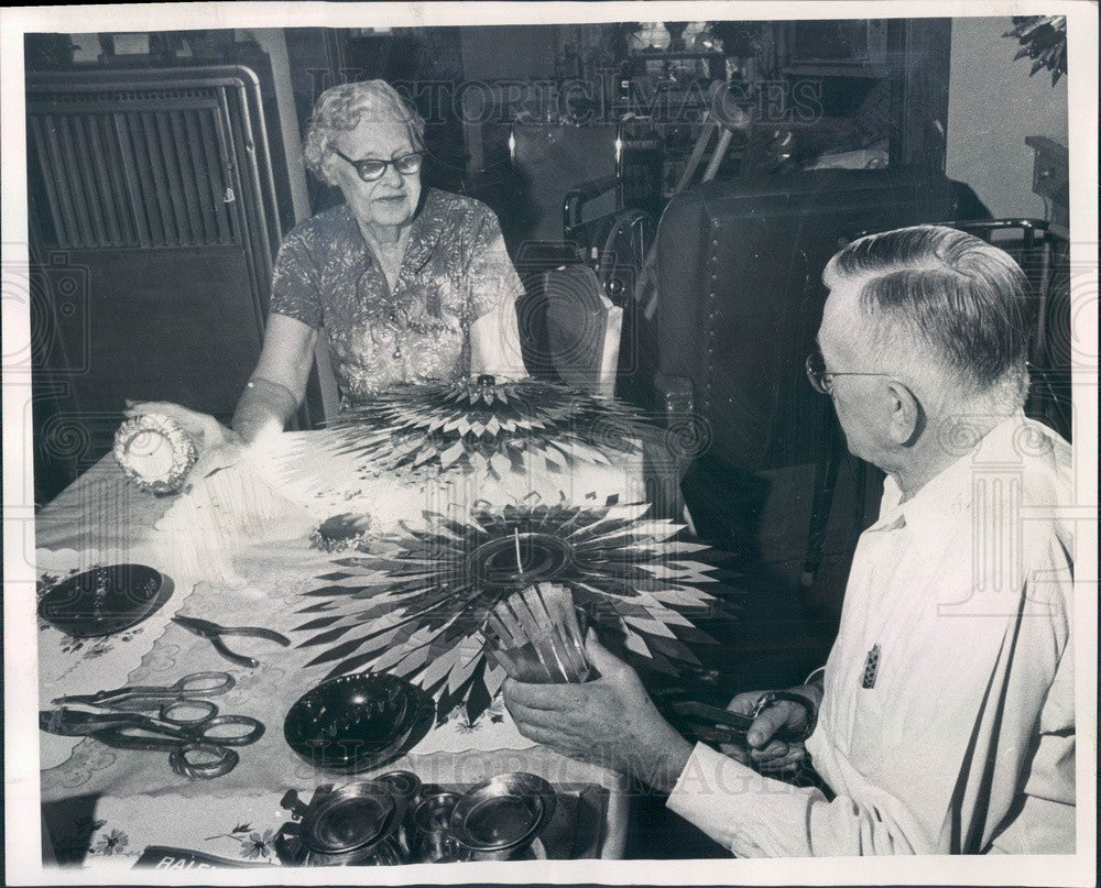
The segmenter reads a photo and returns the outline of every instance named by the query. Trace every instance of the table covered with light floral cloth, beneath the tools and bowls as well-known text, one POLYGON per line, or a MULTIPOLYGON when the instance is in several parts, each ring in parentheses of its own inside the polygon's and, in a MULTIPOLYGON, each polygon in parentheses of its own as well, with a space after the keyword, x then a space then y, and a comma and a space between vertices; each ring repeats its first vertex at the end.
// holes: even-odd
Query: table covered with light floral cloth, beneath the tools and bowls
MULTIPOLYGON (((301 443, 309 440, 301 436, 323 434, 291 432, 286 438, 299 436, 301 443)), ((615 491, 630 496, 637 490, 634 484, 640 474, 640 464, 620 461, 614 467, 587 467, 569 481, 574 487, 591 486, 596 496, 615 491)), ((379 526, 392 528, 403 513, 405 519, 413 519, 421 507, 438 504, 442 496, 486 495, 486 485, 456 486, 453 481, 440 482, 451 485, 442 492, 439 485, 374 479, 367 484, 367 496, 379 503, 379 526), (395 505, 402 502, 404 507, 395 505)), ((545 494, 555 483, 562 485, 562 480, 525 478, 516 492, 530 495, 535 489, 545 494)), ((357 484, 362 487, 361 480, 357 484)), ((62 693, 88 693, 124 683, 171 684, 190 672, 224 670, 237 683, 217 698, 221 711, 250 715, 266 725, 260 741, 239 748, 237 767, 214 780, 175 775, 167 753, 118 750, 90 738, 40 734, 43 810, 59 860, 130 867, 146 846, 164 845, 274 863, 271 841, 288 819, 280 807, 287 789, 308 798, 319 785, 370 777, 340 778, 319 771, 296 757, 283 739, 286 710, 325 677, 325 668, 305 666, 316 651, 235 640, 239 649, 260 660, 255 669, 246 669, 222 659, 209 642, 170 621, 175 613, 207 616, 226 625, 263 625, 301 640, 295 627, 303 622, 296 613, 303 605, 302 593, 316 585, 315 578, 331 558, 310 549, 306 539, 321 516, 341 502, 347 505, 341 498, 347 491, 337 487, 318 491, 314 485, 306 491, 273 481, 264 467, 244 464, 212 475, 186 496, 156 498, 130 485, 108 458, 40 513, 37 571, 46 574, 46 581, 96 563, 127 561, 154 567, 175 585, 157 613, 106 639, 78 643, 42 624, 41 708, 47 709, 48 701, 62 693)), ((488 487, 493 495, 506 495, 509 484, 488 487)), ((363 495, 362 490, 359 493, 363 495)), ((599 809, 600 829, 581 836, 582 841, 574 836, 567 851, 548 847, 547 853, 622 855, 623 779, 533 745, 520 735, 499 701, 473 725, 453 716, 407 756, 381 770, 399 768, 440 785, 469 786, 495 774, 522 770, 557 787, 571 787, 575 798, 584 796, 590 809, 599 809)))

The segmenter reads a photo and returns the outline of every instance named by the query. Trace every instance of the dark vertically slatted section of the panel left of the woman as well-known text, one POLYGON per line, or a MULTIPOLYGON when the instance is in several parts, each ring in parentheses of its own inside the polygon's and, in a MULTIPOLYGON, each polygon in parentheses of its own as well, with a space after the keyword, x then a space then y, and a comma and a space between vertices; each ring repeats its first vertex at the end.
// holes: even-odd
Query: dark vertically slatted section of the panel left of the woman
POLYGON ((186 92, 34 97, 29 134, 50 209, 48 245, 240 242, 227 204, 243 198, 231 145, 247 121, 230 114, 220 90, 186 92), (227 122, 237 132, 227 133, 227 122))

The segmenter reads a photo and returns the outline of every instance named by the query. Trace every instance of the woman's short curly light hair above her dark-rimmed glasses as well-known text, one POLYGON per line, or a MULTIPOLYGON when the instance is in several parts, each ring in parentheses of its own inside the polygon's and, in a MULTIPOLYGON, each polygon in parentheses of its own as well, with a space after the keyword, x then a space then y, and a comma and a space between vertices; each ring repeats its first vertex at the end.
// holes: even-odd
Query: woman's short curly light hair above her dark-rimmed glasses
POLYGON ((314 103, 302 146, 306 168, 323 182, 334 140, 361 123, 404 123, 414 147, 424 145, 424 119, 385 80, 362 80, 326 89, 314 103))

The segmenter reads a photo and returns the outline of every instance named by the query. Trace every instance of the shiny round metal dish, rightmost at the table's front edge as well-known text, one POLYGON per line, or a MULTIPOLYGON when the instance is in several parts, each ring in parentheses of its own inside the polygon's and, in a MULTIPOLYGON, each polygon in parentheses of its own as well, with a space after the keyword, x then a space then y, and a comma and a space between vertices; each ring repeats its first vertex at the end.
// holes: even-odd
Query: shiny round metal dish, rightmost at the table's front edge
POLYGON ((476 852, 532 843, 554 814, 555 791, 534 774, 502 774, 470 789, 451 810, 449 832, 476 852))

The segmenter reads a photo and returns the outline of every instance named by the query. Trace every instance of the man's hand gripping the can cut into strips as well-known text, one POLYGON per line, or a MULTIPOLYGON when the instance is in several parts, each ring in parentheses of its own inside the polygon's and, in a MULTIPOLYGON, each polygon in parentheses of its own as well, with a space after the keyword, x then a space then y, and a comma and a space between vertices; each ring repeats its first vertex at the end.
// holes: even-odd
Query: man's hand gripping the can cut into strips
POLYGON ((609 654, 591 631, 585 650, 600 672, 593 681, 526 684, 505 679, 504 703, 520 733, 668 792, 691 745, 658 714, 634 670, 609 654))

